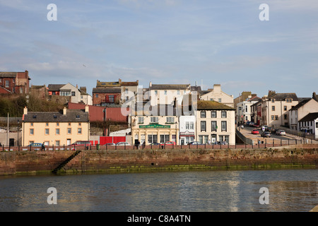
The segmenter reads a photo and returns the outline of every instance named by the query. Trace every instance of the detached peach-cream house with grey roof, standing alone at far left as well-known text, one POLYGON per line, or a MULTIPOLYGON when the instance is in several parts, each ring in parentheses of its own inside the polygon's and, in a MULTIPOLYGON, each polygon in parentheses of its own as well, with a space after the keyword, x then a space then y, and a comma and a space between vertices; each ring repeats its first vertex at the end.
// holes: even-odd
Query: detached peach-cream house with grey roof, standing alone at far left
POLYGON ((22 118, 22 145, 70 145, 90 140, 88 106, 85 110, 63 109, 63 112, 28 112, 22 118))

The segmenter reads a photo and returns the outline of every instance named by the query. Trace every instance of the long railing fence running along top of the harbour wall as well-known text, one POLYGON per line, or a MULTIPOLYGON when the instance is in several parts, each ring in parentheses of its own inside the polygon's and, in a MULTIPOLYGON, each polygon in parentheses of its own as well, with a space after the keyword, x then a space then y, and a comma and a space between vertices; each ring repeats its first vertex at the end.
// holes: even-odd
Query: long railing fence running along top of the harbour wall
MULTIPOLYGON (((63 146, 45 146, 45 151, 59 150, 158 150, 158 149, 257 149, 257 148, 274 148, 286 145, 297 145, 304 143, 312 143, 312 140, 303 139, 281 139, 279 142, 259 141, 257 144, 194 144, 194 145, 63 145, 63 146)), ((42 151, 41 146, 1 146, 0 151, 42 151)))

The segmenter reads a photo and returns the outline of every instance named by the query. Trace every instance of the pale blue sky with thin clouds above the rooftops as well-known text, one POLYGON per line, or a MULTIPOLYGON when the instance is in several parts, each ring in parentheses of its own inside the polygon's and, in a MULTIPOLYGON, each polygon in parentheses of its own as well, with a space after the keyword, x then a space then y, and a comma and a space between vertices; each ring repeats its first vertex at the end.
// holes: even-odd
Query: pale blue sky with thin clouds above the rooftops
POLYGON ((0 71, 25 70, 31 85, 71 83, 90 95, 97 80, 120 78, 312 97, 318 1, 0 0, 0 71))

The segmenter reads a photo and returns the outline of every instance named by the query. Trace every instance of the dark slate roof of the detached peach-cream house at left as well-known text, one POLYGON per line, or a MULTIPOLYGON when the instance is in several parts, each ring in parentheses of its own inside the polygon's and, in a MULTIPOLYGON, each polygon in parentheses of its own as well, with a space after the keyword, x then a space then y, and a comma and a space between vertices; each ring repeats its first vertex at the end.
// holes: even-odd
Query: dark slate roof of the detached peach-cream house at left
POLYGON ((88 122, 88 112, 82 109, 66 109, 61 112, 28 112, 23 114, 24 122, 88 122))

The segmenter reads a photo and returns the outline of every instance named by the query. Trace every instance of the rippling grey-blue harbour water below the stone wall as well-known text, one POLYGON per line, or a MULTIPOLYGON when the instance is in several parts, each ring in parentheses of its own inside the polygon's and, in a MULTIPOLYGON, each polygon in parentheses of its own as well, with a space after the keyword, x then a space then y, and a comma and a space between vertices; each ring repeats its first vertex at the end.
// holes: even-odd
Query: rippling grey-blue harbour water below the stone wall
POLYGON ((318 169, 3 176, 0 211, 307 212, 317 191, 318 169))

